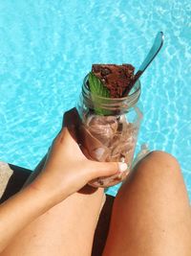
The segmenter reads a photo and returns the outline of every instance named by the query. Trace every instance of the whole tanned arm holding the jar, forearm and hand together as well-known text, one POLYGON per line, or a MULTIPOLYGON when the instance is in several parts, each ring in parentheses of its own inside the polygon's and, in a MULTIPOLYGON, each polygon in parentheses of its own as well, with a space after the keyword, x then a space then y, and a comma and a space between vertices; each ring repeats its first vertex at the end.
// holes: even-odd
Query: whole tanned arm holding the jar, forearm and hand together
POLYGON ((68 117, 65 118, 68 128, 62 128, 54 139, 42 172, 30 185, 0 205, 0 234, 4 234, 0 239, 0 253, 26 225, 90 180, 126 170, 123 163, 100 163, 85 157, 73 137, 72 127, 76 127, 77 119, 68 117), (72 120, 75 124, 70 123, 72 120))

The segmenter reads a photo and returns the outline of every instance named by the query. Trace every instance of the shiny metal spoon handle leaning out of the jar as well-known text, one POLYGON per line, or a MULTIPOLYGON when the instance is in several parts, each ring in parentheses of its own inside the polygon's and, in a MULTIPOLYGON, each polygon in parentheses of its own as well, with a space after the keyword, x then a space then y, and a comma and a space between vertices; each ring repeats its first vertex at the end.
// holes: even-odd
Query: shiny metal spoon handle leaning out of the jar
MULTIPOLYGON (((135 75, 135 79, 131 84, 131 89, 134 87, 136 81, 138 81, 139 77, 143 74, 143 72, 145 71, 145 69, 148 67, 148 65, 153 61, 154 58, 156 58, 156 56, 159 54, 159 50, 161 49, 162 45, 163 45, 163 40, 164 40, 164 35, 163 32, 159 32, 156 35, 154 44, 150 50, 150 52, 148 53, 147 57, 144 59, 144 61, 142 62, 142 64, 140 65, 138 72, 135 75)), ((127 88, 123 95, 125 95, 127 93, 127 90, 129 90, 129 88, 127 88)), ((129 93, 128 93, 129 94, 129 93)))

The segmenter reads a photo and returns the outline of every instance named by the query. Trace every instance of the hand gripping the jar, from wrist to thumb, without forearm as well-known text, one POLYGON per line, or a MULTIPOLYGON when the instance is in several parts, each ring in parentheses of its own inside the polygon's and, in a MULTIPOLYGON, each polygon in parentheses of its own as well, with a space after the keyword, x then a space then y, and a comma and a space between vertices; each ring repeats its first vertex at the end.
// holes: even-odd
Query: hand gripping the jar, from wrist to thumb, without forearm
POLYGON ((69 197, 90 180, 126 171, 125 163, 100 163, 86 158, 68 128, 62 128, 53 141, 44 169, 32 186, 45 194, 52 193, 55 202, 69 197))

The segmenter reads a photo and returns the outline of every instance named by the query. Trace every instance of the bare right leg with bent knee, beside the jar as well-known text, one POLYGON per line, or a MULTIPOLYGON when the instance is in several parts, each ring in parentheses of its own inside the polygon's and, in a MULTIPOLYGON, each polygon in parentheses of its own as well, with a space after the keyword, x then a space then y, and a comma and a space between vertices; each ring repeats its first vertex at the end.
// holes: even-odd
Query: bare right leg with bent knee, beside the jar
POLYGON ((177 160, 154 151, 115 199, 104 256, 190 256, 190 206, 177 160))

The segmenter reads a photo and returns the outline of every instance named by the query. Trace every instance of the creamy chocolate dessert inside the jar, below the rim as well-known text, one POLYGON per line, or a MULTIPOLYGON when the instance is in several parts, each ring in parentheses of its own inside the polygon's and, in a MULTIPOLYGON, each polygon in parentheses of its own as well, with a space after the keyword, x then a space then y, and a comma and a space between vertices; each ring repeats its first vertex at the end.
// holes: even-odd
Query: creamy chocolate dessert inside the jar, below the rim
POLYGON ((106 188, 121 182, 131 168, 138 135, 137 126, 127 122, 124 115, 84 115, 83 121, 84 125, 80 127, 82 151, 88 158, 99 162, 126 162, 128 165, 124 173, 99 177, 89 184, 106 188))

